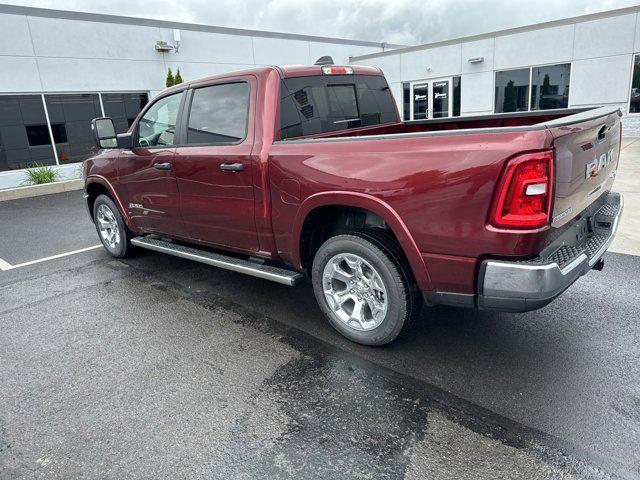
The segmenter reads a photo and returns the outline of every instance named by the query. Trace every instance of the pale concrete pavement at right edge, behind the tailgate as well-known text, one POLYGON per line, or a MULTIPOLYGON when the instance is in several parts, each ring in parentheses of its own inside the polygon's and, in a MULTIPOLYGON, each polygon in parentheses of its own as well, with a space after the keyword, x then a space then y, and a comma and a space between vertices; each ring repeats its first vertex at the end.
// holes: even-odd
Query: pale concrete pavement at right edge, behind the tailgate
POLYGON ((640 255, 640 138, 623 138, 613 190, 624 196, 624 212, 612 252, 640 255))

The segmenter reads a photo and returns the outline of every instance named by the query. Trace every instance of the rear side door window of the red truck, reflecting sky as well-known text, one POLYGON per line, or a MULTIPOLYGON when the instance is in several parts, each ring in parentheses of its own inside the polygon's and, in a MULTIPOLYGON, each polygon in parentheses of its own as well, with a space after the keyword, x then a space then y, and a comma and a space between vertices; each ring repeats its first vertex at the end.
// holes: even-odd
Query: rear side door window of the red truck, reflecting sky
POLYGON ((249 84, 225 83, 193 91, 187 123, 188 145, 229 145, 247 136, 249 84))

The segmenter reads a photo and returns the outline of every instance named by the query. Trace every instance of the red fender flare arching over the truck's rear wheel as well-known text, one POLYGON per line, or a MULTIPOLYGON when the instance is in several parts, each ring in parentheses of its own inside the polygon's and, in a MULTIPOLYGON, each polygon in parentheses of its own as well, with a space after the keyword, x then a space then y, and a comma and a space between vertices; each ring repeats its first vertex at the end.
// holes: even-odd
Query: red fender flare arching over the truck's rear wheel
POLYGON ((429 278, 424 261, 420 255, 420 250, 409 233, 407 226, 404 224, 397 212, 387 203, 366 193, 344 191, 321 192, 311 195, 302 202, 293 222, 292 232, 293 245, 291 253, 298 268, 302 268, 302 261, 300 257, 300 237, 302 235, 304 222, 312 210, 325 206, 362 208, 364 210, 369 210, 382 218, 398 239, 400 247, 409 261, 409 265, 411 266, 413 275, 418 283, 418 287, 421 290, 432 289, 431 279, 429 278))

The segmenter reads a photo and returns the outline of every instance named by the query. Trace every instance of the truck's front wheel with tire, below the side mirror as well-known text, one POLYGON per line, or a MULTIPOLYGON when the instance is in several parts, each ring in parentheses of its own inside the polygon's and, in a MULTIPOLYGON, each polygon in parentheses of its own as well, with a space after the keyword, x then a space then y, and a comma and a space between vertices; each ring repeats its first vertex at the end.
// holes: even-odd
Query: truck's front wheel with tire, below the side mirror
POLYGON ((107 195, 98 195, 93 204, 93 219, 98 237, 105 250, 115 258, 124 258, 133 250, 131 232, 124 223, 120 210, 107 195))

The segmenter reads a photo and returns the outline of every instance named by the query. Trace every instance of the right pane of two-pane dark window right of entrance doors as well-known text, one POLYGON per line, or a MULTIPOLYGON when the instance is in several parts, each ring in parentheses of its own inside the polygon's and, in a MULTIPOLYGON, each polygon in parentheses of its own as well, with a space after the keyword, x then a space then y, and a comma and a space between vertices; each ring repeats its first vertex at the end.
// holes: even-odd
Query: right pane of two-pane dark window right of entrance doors
POLYGON ((551 110, 569 106, 571 64, 533 67, 531 70, 531 110, 551 110))

